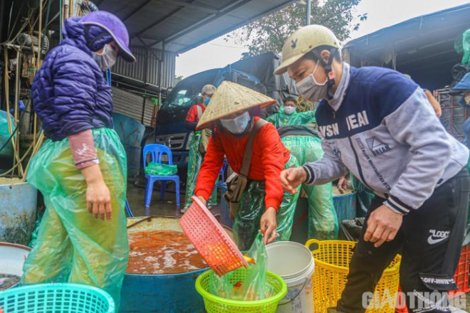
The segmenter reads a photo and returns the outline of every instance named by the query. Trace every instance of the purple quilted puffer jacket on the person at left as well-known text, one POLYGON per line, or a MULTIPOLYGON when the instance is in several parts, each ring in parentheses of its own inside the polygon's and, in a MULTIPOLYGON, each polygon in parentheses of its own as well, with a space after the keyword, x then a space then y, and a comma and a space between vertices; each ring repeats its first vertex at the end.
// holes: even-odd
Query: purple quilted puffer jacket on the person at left
MULTIPOLYGON (((62 140, 98 127, 113 128, 111 87, 86 46, 80 18, 64 23, 64 40, 46 56, 31 93, 47 137, 62 140)), ((97 32, 90 32, 90 39, 97 32)))

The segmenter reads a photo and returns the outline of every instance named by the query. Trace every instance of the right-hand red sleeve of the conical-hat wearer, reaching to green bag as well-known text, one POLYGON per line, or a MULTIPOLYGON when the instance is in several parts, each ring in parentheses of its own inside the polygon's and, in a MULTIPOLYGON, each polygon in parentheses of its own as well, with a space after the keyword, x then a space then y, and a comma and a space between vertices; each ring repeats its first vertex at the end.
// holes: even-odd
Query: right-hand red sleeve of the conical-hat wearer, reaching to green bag
POLYGON ((286 168, 286 164, 284 164, 284 146, 273 124, 266 124, 259 130, 259 134, 256 136, 256 146, 261 148, 263 155, 266 184, 264 202, 266 208, 272 206, 277 211, 283 199, 283 189, 279 176, 281 176, 281 171, 286 168))

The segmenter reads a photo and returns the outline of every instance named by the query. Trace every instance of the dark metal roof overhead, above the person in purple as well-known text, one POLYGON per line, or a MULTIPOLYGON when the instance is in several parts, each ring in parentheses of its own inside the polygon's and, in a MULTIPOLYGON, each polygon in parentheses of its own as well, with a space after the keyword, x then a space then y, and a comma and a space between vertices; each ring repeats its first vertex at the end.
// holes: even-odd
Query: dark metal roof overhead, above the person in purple
POLYGON ((124 21, 132 45, 183 53, 293 0, 97 0, 124 21))

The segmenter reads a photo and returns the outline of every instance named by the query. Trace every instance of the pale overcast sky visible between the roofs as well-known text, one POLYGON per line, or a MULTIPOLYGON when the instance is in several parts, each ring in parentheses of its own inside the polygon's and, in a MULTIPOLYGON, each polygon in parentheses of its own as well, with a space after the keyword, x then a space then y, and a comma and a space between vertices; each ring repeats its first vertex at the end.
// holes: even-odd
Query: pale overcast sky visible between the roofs
MULTIPOLYGON (((468 0, 362 0, 357 14, 367 13, 367 21, 361 23, 351 38, 364 36, 380 28, 406 21, 409 18, 432 13, 452 6, 468 3, 468 0)), ((188 77, 210 68, 223 68, 241 58, 247 49, 222 37, 182 53, 176 59, 176 75, 188 77)))

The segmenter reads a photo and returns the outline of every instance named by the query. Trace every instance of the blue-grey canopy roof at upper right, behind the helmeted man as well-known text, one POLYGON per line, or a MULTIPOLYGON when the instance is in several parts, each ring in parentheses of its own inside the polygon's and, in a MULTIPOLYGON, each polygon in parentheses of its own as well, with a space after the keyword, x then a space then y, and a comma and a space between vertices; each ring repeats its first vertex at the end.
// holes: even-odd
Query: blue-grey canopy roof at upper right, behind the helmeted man
POLYGON ((430 90, 444 87, 461 61, 454 43, 470 28, 469 16, 470 4, 417 16, 349 41, 343 58, 356 67, 394 68, 430 90))

